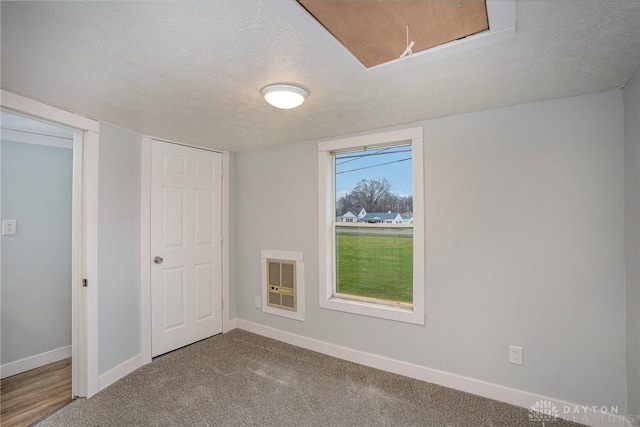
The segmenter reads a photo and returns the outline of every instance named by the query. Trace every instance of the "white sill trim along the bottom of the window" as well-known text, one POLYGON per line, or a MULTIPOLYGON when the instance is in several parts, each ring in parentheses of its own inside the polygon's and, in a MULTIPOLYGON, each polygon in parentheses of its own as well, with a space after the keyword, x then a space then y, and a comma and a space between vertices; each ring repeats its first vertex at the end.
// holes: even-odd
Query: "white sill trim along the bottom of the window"
POLYGON ((371 303, 347 298, 331 297, 321 299, 320 308, 377 317, 380 319, 395 320, 397 322, 413 323, 416 325, 425 324, 423 313, 418 313, 412 308, 402 307, 400 305, 371 303))

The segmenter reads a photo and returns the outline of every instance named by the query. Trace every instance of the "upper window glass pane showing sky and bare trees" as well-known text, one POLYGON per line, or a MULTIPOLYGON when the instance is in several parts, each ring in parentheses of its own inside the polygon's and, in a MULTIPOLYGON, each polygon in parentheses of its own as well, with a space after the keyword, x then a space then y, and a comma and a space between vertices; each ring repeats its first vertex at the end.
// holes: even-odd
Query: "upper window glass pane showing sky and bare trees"
POLYGON ((411 146, 337 153, 337 222, 411 223, 411 146))

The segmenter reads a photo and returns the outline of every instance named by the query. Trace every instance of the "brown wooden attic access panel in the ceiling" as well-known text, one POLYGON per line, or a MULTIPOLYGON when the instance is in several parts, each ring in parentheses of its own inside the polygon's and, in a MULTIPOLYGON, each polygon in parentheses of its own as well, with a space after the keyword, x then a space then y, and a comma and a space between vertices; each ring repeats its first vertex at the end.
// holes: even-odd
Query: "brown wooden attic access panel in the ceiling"
POLYGON ((486 0, 297 0, 366 67, 489 29, 486 0))

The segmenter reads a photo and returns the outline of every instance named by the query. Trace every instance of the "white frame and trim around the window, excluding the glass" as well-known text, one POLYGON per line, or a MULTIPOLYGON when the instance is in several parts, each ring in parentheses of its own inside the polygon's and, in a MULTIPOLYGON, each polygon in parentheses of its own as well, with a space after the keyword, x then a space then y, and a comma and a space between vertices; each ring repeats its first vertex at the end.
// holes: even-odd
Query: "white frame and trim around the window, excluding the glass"
MULTIPOLYGON (((319 303, 321 308, 361 314, 399 322, 425 324, 424 316, 424 155, 421 127, 398 131, 336 139, 318 143, 319 202, 319 303), (335 296, 335 166, 333 155, 338 151, 380 145, 411 145, 413 173, 413 306, 381 304, 362 298, 335 296)), ((387 225, 393 226, 393 225, 387 225)))

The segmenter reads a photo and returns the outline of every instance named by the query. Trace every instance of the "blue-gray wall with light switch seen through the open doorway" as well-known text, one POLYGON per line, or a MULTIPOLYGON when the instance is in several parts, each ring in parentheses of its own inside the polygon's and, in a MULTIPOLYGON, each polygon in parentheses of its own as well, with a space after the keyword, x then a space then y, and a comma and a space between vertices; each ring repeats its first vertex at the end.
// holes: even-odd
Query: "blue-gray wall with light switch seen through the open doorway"
POLYGON ((2 141, 2 364, 71 345, 73 152, 2 141))

